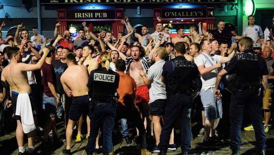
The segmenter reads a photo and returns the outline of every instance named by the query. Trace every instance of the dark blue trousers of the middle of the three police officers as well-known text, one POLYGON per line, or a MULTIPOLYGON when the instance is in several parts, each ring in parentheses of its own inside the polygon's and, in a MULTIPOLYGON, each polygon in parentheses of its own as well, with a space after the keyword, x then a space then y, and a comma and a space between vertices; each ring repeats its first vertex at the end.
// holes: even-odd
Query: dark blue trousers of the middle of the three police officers
POLYGON ((171 95, 167 98, 164 125, 162 128, 159 148, 167 152, 170 134, 175 126, 176 119, 180 117, 181 151, 188 152, 191 142, 190 117, 192 99, 186 94, 171 95))

